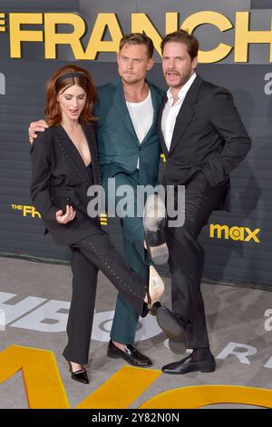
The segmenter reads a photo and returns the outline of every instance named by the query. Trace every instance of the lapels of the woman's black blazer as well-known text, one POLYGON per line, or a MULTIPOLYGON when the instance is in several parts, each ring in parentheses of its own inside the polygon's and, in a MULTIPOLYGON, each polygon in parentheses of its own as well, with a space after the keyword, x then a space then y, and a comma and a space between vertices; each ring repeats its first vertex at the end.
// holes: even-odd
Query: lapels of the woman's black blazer
MULTIPOLYGON (((92 148, 92 140, 90 137, 90 134, 86 132, 86 125, 83 124, 83 132, 86 135, 86 139, 89 145, 90 154, 92 157, 93 154, 93 148, 92 148)), ((70 161, 71 164, 73 164, 73 167, 75 171, 83 176, 84 181, 90 180, 90 174, 88 171, 88 167, 85 166, 83 162, 83 158, 81 154, 79 154, 79 151, 69 138, 68 134, 66 134, 65 130, 63 129, 63 126, 59 124, 55 127, 55 133, 56 133, 56 142, 59 144, 63 150, 63 152, 66 154, 67 160, 70 161)), ((95 155, 95 154, 93 154, 95 155)))

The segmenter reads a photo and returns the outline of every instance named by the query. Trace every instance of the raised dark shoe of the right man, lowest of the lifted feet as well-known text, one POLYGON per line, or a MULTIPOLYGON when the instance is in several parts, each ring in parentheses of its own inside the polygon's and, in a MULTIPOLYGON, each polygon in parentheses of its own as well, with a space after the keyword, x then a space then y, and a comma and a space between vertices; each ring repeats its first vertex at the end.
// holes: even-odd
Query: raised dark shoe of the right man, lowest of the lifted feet
POLYGON ((157 322, 159 323, 160 329, 162 329, 171 341, 185 343, 187 345, 188 333, 186 325, 183 324, 180 319, 178 320, 168 308, 163 306, 158 308, 157 322))

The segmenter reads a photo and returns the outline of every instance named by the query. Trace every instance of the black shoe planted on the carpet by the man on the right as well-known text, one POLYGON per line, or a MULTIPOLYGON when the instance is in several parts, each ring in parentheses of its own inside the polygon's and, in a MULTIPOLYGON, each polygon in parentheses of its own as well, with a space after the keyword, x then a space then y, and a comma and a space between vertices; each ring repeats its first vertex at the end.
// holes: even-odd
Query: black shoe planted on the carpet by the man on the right
POLYGON ((181 375, 189 372, 214 372, 216 370, 216 361, 211 354, 209 358, 200 362, 193 362, 191 354, 179 362, 173 362, 162 366, 161 371, 173 375, 181 375))

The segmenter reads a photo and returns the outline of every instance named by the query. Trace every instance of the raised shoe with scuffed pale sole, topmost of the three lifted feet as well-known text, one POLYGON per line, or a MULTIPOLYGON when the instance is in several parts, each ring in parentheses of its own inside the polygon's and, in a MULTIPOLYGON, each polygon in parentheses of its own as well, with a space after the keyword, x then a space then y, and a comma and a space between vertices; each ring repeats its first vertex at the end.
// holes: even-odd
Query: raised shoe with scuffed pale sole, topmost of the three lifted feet
POLYGON ((142 223, 146 249, 151 261, 155 264, 167 263, 169 251, 164 234, 166 210, 158 194, 151 194, 147 198, 142 223))

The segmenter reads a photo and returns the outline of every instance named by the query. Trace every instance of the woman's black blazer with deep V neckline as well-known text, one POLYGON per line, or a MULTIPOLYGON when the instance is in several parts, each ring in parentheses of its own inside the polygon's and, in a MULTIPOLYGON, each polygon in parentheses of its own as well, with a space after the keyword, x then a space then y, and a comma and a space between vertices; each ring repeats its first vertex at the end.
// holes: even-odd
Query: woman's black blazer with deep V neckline
POLYGON ((97 233, 100 227, 98 218, 87 214, 91 200, 87 196, 88 187, 92 180, 93 184, 101 184, 93 126, 83 125, 92 156, 93 176, 62 125, 39 133, 31 147, 33 204, 58 244, 70 245, 97 233), (65 212, 66 204, 73 206, 75 218, 70 223, 57 223, 55 214, 59 209, 65 212))

